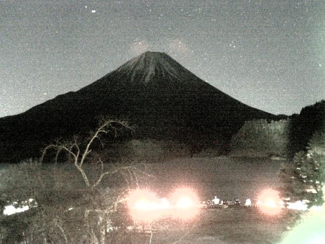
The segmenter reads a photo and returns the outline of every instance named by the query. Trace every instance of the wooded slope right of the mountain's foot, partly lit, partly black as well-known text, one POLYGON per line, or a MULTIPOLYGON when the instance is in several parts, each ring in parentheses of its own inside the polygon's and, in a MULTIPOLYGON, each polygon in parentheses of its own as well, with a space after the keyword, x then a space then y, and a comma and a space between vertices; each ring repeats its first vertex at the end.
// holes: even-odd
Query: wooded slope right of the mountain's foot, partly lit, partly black
POLYGON ((306 150, 312 135, 324 127, 325 100, 322 100, 287 119, 246 121, 232 137, 231 151, 293 157, 298 151, 306 150))

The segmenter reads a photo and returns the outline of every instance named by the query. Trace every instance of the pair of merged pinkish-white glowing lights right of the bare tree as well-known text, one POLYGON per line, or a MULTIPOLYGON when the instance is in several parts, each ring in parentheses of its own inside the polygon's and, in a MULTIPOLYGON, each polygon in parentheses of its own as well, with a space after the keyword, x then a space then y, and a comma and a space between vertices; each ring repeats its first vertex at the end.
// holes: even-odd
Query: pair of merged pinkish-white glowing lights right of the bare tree
POLYGON ((170 197, 157 198, 148 190, 136 190, 128 198, 127 204, 133 219, 143 222, 172 217, 189 220, 199 211, 199 199, 188 188, 177 189, 170 197))

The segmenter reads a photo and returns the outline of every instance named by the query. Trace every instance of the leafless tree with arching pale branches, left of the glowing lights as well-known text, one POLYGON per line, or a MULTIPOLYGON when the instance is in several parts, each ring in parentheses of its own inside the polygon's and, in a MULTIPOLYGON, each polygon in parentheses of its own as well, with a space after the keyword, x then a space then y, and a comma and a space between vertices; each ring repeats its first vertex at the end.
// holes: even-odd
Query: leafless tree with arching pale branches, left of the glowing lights
MULTIPOLYGON (((40 158, 40 163, 43 163, 47 151, 54 149, 56 150, 55 162, 57 162, 59 154, 66 153, 69 161, 73 163, 81 174, 90 200, 87 207, 82 209, 85 223, 84 227, 87 229, 87 241, 89 241, 89 243, 106 243, 107 232, 113 228, 111 216, 117 211, 118 204, 125 201, 125 196, 131 188, 138 187, 139 173, 148 175, 135 166, 121 166, 106 170, 101 157, 92 151, 95 142, 100 142, 104 145, 102 140, 103 135, 111 134, 116 137, 120 129, 132 131, 132 128, 124 121, 104 119, 98 129, 90 134, 90 137, 84 144, 78 142, 77 137, 74 137, 70 142, 60 143, 57 141, 55 144, 46 146, 40 158), (95 177, 90 178, 89 173, 86 172, 84 166, 87 161, 100 168, 99 174, 95 177), (105 192, 107 188, 102 186, 102 181, 105 177, 111 177, 116 174, 122 176, 126 183, 126 189, 120 191, 119 194, 114 192, 115 196, 113 197, 110 193, 105 192)), ((80 209, 76 210, 80 211, 80 209)), ((59 229, 61 235, 64 237, 64 242, 68 244, 68 237, 62 225, 59 224, 60 222, 58 219, 59 218, 56 217, 56 221, 51 224, 52 226, 54 224, 54 226, 59 229)))

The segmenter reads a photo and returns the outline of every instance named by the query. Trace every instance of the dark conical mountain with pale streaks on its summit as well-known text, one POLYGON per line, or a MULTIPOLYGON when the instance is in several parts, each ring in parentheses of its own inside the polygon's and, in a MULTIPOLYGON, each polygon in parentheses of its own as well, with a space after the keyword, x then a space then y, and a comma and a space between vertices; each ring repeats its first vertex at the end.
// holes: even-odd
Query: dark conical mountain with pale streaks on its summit
POLYGON ((56 138, 86 135, 101 115, 128 120, 136 138, 175 140, 198 150, 226 148, 247 120, 278 119, 222 93, 169 55, 145 52, 77 92, 0 118, 0 157, 37 157, 56 138))

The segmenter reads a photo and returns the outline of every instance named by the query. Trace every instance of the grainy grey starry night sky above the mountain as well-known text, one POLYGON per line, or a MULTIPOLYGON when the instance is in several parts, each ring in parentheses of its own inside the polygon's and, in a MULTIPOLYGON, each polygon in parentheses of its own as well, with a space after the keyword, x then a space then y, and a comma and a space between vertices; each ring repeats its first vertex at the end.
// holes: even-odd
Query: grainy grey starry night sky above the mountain
POLYGON ((325 1, 0 0, 0 117, 147 50, 274 114, 325 99, 325 1))

